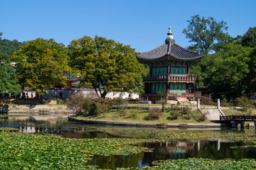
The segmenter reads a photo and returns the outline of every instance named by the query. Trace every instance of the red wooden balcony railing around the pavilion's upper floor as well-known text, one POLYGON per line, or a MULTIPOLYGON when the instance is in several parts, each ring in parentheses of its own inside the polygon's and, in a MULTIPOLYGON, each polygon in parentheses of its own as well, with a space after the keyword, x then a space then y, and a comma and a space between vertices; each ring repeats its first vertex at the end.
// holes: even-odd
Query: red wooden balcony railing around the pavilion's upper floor
POLYGON ((194 83, 196 81, 196 75, 191 74, 158 74, 143 77, 144 82, 153 82, 153 81, 168 81, 168 82, 185 82, 185 83, 194 83))

